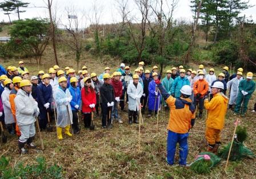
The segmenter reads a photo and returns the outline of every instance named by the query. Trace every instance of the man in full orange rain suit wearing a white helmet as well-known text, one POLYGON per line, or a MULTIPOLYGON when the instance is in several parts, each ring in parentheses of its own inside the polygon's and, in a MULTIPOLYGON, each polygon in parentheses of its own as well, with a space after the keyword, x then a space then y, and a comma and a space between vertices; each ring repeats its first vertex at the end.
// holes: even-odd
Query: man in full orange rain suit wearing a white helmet
POLYGON ((205 99, 205 109, 208 110, 205 132, 207 151, 213 153, 218 152, 219 145, 221 144, 220 134, 224 127, 227 102, 229 100, 222 91, 224 91, 223 83, 215 82, 213 86, 211 86, 213 99, 211 99, 210 102, 208 99, 205 99))

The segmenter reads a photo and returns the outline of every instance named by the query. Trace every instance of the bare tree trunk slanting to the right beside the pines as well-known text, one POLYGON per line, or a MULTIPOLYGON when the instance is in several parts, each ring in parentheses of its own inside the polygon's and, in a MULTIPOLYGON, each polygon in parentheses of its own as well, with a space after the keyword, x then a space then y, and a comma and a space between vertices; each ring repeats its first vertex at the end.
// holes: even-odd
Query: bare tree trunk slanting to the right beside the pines
POLYGON ((189 48, 187 49, 187 52, 186 52, 186 55, 185 55, 185 58, 184 58, 184 64, 189 63, 189 60, 191 58, 191 51, 192 51, 192 48, 194 47, 195 31, 197 31, 197 24, 198 24, 198 19, 199 19, 199 15, 200 15, 200 10, 201 10, 201 7, 202 7, 202 1, 203 0, 198 2, 197 18, 195 19, 194 24, 193 24, 192 36, 191 36, 191 39, 190 39, 189 48))

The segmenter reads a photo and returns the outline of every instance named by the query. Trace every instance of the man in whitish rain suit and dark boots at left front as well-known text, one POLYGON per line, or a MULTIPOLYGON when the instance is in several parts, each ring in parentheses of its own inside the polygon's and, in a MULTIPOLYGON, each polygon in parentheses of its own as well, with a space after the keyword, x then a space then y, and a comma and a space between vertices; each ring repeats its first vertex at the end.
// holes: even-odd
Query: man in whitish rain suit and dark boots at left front
POLYGON ((37 102, 31 95, 32 84, 29 80, 21 80, 17 95, 14 99, 16 108, 17 125, 21 131, 18 147, 21 154, 28 153, 25 143, 29 148, 36 148, 32 142, 35 136, 35 117, 39 114, 37 102))

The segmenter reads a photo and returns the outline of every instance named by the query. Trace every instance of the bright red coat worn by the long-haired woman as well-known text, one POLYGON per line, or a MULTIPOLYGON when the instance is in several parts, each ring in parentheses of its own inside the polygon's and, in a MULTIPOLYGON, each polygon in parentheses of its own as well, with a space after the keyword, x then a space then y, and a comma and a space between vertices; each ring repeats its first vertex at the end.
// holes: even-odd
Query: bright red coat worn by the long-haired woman
MULTIPOLYGON (((96 93, 95 91, 91 92, 91 89, 88 89, 88 93, 86 93, 85 87, 81 90, 82 96, 82 112, 91 112, 91 108, 89 107, 90 104, 96 105, 96 93)), ((95 108, 93 108, 95 111, 95 108)))

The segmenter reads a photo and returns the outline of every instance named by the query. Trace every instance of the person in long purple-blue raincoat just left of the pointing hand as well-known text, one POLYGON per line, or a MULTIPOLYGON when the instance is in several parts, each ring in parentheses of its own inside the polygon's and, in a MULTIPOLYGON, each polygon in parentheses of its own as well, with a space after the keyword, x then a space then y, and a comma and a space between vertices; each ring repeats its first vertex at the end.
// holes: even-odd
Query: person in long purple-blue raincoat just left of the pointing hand
MULTIPOLYGON (((154 72, 152 74, 153 79, 158 79, 158 74, 157 72, 154 72)), ((158 112, 158 108, 159 108, 159 97, 160 97, 160 93, 158 91, 158 86, 157 84, 155 84, 155 81, 152 80, 149 83, 149 116, 152 115, 152 112, 154 112, 154 115, 157 115, 158 112), (157 101, 155 101, 157 100, 157 101)))

